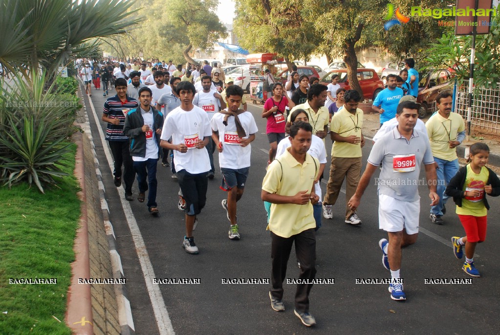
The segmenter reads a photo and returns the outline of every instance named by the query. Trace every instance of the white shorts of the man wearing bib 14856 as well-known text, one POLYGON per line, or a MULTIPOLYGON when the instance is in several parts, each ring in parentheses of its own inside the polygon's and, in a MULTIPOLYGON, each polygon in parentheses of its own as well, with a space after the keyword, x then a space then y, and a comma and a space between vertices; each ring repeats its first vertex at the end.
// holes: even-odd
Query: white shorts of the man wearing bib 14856
POLYGON ((402 201, 392 196, 378 194, 378 227, 396 232, 403 228, 408 235, 418 232, 420 200, 402 201))

